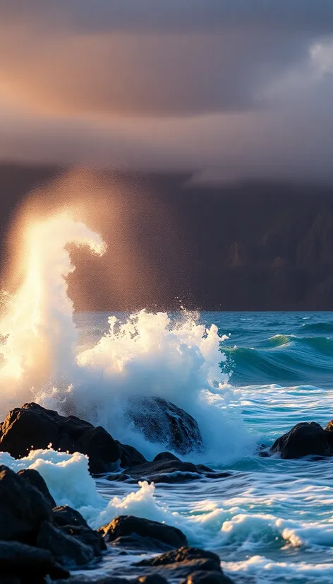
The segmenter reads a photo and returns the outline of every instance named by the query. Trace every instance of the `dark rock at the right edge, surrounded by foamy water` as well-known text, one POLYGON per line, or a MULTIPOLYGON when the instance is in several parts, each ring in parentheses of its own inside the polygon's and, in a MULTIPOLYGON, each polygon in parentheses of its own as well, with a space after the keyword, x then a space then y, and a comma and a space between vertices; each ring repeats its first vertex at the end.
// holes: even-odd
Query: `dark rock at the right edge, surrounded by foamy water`
POLYGON ((301 458, 308 455, 332 456, 333 433, 316 422, 301 422, 275 440, 271 452, 281 452, 281 458, 301 458))

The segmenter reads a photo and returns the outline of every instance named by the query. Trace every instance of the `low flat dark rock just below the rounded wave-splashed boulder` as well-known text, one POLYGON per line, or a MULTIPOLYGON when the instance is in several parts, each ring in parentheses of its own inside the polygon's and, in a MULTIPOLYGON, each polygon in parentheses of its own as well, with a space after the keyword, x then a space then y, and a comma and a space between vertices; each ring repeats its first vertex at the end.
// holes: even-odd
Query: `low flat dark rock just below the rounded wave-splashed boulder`
POLYGON ((157 460, 137 465, 121 474, 107 477, 109 481, 154 481, 155 483, 185 483, 198 479, 220 479, 229 477, 229 472, 214 472, 204 465, 193 465, 192 462, 182 462, 179 459, 157 460))

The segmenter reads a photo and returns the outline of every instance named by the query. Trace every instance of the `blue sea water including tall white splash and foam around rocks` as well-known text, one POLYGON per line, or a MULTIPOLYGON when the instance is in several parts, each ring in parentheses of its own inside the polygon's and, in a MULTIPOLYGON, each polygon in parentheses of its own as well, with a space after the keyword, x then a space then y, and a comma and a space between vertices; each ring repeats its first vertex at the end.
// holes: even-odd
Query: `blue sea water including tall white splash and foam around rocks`
MULTIPOLYGON (((159 395, 200 426, 204 451, 188 460, 230 477, 138 486, 95 481, 87 458, 32 450, 0 463, 32 467, 56 503, 92 527, 132 513, 176 525, 191 545, 221 556, 237 584, 333 581, 333 459, 258 456, 299 421, 333 418, 333 313, 74 312, 68 243, 95 254, 104 243, 83 223, 52 217, 30 229, 26 274, 3 294, 0 416, 35 401, 101 424, 148 458, 165 450, 128 424, 133 395, 159 395)), ((107 274, 106 274, 107 277, 107 274)), ((134 558, 133 558, 134 559, 134 558)), ((86 576, 126 575, 128 556, 110 550, 86 576)))

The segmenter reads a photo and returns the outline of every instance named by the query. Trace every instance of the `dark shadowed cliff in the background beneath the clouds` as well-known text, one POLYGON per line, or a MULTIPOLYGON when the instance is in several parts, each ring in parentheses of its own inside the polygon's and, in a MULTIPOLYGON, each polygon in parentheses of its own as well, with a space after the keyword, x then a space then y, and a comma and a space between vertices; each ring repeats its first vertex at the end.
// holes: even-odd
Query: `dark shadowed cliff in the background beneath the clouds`
MULTIPOLYGON (((20 202, 57 173, 0 167, 3 264, 20 202)), ((75 252, 70 293, 78 309, 165 309, 181 301, 206 310, 333 310, 333 186, 198 187, 181 175, 108 173, 104 183, 118 178, 127 193, 126 233, 123 218, 119 232, 111 228, 105 207, 101 230, 110 250, 121 239, 121 252, 98 261, 75 252)))

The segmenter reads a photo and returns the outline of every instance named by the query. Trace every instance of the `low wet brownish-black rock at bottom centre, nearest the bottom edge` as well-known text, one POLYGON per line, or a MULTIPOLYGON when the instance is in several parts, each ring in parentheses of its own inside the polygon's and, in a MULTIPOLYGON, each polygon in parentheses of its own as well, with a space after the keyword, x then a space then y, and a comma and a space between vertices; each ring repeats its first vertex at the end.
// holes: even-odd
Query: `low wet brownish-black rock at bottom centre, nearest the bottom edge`
POLYGON ((167 570, 172 578, 189 576, 195 571, 222 573, 220 559, 212 551, 195 547, 181 547, 165 554, 143 559, 136 566, 151 566, 157 570, 167 570))

